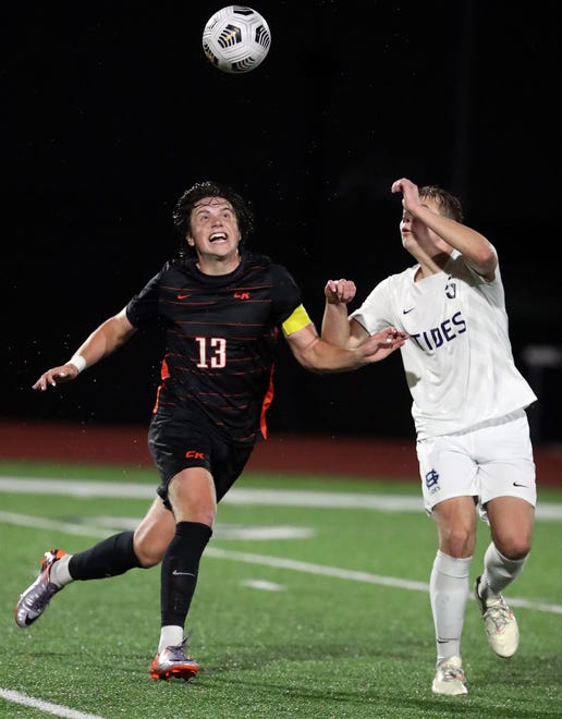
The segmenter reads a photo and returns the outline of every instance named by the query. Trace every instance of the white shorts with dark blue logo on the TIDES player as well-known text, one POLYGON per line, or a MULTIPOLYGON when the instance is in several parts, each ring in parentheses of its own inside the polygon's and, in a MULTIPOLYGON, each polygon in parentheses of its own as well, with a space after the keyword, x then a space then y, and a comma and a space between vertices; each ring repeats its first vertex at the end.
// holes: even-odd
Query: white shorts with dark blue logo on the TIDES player
POLYGON ((536 507, 535 462, 524 410, 468 431, 419 440, 416 451, 428 514, 451 497, 476 497, 485 522, 486 502, 496 497, 518 497, 536 507))

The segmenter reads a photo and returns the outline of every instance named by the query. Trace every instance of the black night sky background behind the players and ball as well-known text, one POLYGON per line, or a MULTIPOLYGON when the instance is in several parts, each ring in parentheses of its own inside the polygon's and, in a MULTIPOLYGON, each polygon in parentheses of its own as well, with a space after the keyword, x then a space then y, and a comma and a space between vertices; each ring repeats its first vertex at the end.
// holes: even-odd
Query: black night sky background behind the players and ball
MULTIPOLYGON (((390 193, 405 175, 460 195, 497 246, 515 360, 540 394, 535 440, 560 442, 558 1, 256 0, 272 45, 239 76, 201 50, 224 4, 3 8, 1 418, 148 423, 156 333, 60 390, 30 386, 175 252, 172 206, 194 182, 252 202, 253 245, 289 267, 319 327, 328 278, 363 298, 413 264, 390 193), (528 345, 552 348, 549 366, 528 345)), ((283 344, 276 387, 270 431, 414 436, 398 353, 316 376, 283 344)))

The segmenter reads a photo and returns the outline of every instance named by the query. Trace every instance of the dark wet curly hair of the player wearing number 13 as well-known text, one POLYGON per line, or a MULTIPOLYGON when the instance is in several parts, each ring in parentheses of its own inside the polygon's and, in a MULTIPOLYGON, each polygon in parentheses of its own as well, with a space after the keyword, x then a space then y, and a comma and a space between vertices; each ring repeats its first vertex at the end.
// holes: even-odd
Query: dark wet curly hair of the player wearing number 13
POLYGON ((192 210, 205 197, 222 197, 232 205, 242 237, 239 245, 242 249, 244 241, 254 231, 254 215, 246 200, 235 190, 229 187, 229 185, 207 180, 197 182, 186 190, 175 203, 172 217, 175 229, 181 236, 180 254, 185 255, 191 249, 185 243, 185 237, 191 232, 192 210))

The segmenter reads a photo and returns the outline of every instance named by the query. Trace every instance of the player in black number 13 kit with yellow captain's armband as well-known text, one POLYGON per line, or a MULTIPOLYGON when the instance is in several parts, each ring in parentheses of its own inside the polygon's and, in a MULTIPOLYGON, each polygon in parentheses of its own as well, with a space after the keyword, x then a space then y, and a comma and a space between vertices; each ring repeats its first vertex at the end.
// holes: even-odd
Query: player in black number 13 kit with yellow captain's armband
POLYGON ((160 486, 135 532, 122 532, 75 555, 45 553, 37 580, 20 596, 15 621, 29 626, 52 596, 76 580, 123 574, 161 562, 161 630, 154 679, 188 680, 198 671, 185 656, 184 625, 200 557, 212 534, 217 504, 266 439, 276 346, 282 334, 298 363, 343 371, 383 360, 406 336, 377 332, 354 350, 318 337, 289 271, 243 249, 251 210, 231 187, 195 184, 176 203, 180 256, 113 317, 103 321, 61 366, 33 386, 47 390, 73 380, 152 321, 163 324, 166 349, 148 434, 160 486))

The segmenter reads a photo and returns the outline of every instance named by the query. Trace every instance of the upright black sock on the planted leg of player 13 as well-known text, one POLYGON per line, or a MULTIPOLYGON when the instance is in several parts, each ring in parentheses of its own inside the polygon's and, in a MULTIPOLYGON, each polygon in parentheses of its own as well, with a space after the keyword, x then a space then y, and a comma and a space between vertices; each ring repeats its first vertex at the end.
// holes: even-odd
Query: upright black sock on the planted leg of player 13
POLYGON ((192 604, 199 560, 212 529, 199 522, 178 522, 175 534, 162 559, 161 625, 183 626, 192 604))

